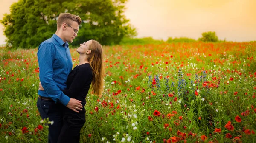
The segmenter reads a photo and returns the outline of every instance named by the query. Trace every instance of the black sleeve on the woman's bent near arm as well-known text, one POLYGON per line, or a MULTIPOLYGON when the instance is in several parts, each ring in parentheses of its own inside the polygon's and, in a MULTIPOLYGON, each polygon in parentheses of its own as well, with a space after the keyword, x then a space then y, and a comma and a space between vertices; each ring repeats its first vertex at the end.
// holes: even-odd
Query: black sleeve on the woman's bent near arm
POLYGON ((70 97, 75 97, 84 88, 84 85, 88 80, 92 79, 93 73, 88 67, 81 67, 76 71, 76 75, 70 85, 63 93, 70 95, 70 97))

